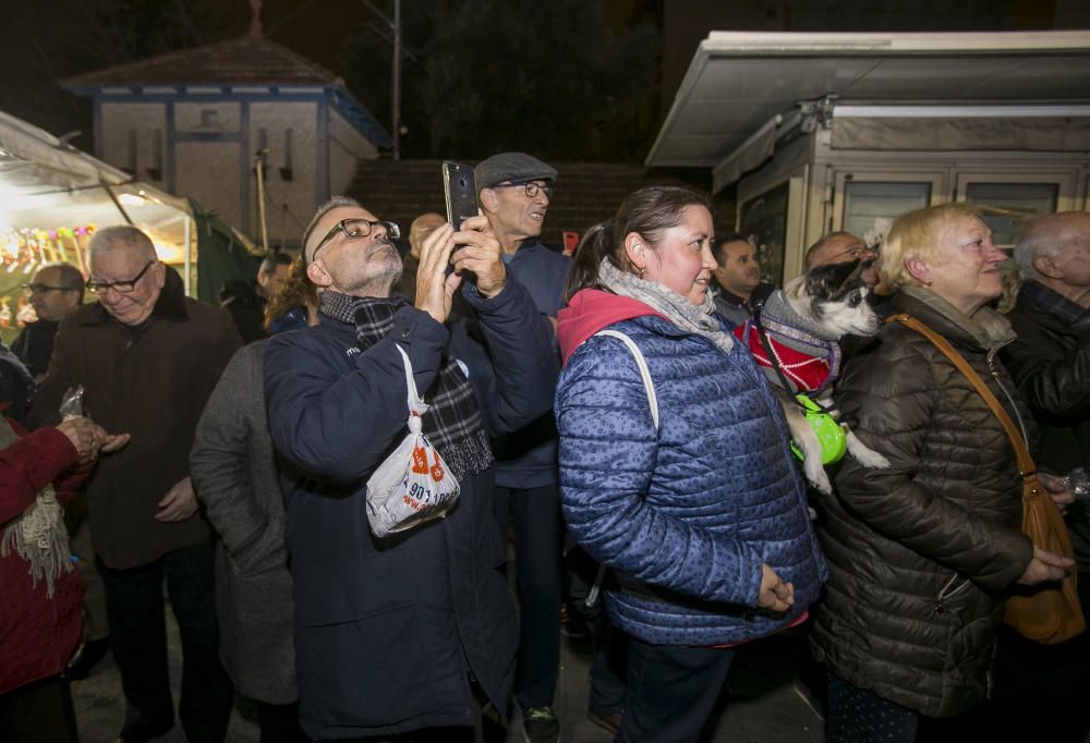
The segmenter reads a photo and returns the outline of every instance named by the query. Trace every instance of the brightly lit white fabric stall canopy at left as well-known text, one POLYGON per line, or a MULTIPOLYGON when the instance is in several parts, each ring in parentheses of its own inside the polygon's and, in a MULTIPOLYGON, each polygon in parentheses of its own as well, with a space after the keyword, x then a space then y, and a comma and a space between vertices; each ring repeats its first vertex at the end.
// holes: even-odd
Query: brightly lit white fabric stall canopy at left
MULTIPOLYGON (((0 233, 52 233, 56 240, 58 230, 123 223, 126 215, 164 261, 185 263, 191 214, 184 199, 0 111, 0 233)), ((5 241, 0 254, 12 248, 5 241)))

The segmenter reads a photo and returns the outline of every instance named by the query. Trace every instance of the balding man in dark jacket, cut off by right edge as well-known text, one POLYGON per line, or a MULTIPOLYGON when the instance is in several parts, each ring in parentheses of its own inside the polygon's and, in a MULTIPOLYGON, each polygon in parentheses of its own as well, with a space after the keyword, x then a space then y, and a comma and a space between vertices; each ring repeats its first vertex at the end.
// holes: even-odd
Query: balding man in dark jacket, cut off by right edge
MULTIPOLYGON (((1018 339, 1003 362, 1040 428, 1038 466, 1061 475, 1090 468, 1090 214, 1066 211, 1030 224, 1015 260, 1025 281, 1007 318, 1018 339)), ((1067 509, 1067 528, 1082 613, 1090 617, 1090 502, 1067 509)), ((1042 647, 1004 633, 998 661, 994 698, 1005 732, 1086 739, 1090 635, 1042 647)))

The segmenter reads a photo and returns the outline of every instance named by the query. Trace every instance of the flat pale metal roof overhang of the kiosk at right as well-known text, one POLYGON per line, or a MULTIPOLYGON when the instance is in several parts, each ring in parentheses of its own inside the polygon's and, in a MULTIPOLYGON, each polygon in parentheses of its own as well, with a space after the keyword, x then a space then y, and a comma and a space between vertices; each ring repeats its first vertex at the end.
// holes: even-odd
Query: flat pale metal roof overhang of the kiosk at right
POLYGON ((645 163, 717 168, 747 144, 766 157, 779 117, 827 96, 836 106, 1090 106, 1090 32, 712 32, 645 163))

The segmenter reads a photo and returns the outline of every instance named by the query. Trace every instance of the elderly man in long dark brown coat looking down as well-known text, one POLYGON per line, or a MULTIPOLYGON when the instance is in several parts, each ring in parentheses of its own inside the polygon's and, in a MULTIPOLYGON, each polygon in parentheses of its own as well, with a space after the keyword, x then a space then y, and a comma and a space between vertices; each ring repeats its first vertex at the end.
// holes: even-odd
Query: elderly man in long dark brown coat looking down
POLYGON ((82 385, 95 421, 132 435, 87 490, 126 702, 120 740, 148 741, 173 727, 166 577, 182 638, 182 727, 190 741, 221 741, 231 682, 217 657, 213 536, 197 511, 189 452, 205 401, 242 342, 230 315, 184 295, 136 228, 99 230, 88 254, 87 288, 99 302, 61 321, 31 425, 56 423, 64 391, 82 385))

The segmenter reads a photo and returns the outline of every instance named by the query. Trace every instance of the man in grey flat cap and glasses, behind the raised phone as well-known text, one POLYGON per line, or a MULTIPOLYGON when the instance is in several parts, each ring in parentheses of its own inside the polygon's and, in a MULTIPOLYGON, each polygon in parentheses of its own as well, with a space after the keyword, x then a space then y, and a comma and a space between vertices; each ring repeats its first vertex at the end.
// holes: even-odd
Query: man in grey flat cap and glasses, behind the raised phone
MULTIPOLYGON (((556 181, 556 169, 525 153, 501 153, 474 170, 481 208, 507 270, 530 290, 537 310, 556 327, 571 258, 538 240, 556 181)), ((526 740, 555 743, 553 711, 560 662, 560 557, 564 527, 557 470, 556 422, 549 411, 532 424, 493 440, 496 452, 496 517, 506 536, 514 521, 521 620, 514 696, 526 740)))

